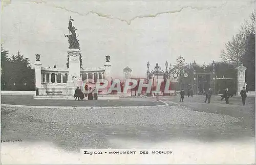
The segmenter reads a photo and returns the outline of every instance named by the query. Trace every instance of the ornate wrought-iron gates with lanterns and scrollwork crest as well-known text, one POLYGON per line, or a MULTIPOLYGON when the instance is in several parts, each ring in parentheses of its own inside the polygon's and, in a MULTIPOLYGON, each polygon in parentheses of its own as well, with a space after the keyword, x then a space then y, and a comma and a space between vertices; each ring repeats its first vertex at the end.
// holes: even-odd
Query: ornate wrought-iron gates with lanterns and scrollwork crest
POLYGON ((204 63, 203 71, 196 72, 196 62, 187 64, 185 59, 180 56, 173 67, 169 64, 168 68, 168 62, 166 61, 165 71, 157 63, 154 70, 150 72, 150 63, 147 62, 146 78, 148 82, 149 79, 155 76, 163 76, 164 80, 170 80, 170 90, 180 91, 183 89, 185 93, 192 90, 194 95, 205 95, 205 91, 209 87, 215 93, 215 62, 212 63, 212 66, 213 69, 210 72, 205 72, 207 66, 204 63))

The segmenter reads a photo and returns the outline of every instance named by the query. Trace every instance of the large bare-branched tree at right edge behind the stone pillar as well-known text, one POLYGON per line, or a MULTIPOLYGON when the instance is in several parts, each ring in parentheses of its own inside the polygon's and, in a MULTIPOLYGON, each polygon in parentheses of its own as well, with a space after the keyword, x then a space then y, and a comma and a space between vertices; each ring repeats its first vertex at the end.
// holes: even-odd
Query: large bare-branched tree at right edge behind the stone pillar
POLYGON ((234 67, 241 64, 247 67, 247 89, 255 90, 255 11, 242 24, 240 32, 226 43, 225 50, 222 50, 222 59, 234 67))

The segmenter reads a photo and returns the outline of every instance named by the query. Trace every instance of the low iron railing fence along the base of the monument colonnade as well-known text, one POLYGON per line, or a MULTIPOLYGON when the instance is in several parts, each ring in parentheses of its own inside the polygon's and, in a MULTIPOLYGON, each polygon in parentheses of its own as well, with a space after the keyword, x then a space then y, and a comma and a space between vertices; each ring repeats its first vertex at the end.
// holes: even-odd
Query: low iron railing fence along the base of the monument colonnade
MULTIPOLYGON (((74 96, 76 87, 37 88, 36 90, 37 96, 74 96)), ((85 91, 82 92, 87 93, 85 91)), ((117 94, 117 91, 110 92, 109 88, 95 89, 94 92, 97 92, 100 96, 117 94)))

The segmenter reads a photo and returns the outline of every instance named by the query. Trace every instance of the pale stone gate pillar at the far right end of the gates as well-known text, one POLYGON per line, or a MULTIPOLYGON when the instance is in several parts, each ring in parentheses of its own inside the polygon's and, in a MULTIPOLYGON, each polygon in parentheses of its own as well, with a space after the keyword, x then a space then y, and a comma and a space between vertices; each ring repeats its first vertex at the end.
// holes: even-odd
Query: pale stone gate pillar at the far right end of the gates
POLYGON ((238 70, 237 73, 237 95, 240 95, 240 91, 243 89, 243 87, 246 87, 246 83, 245 83, 245 70, 247 69, 245 66, 243 66, 243 64, 241 66, 238 66, 236 68, 238 70))

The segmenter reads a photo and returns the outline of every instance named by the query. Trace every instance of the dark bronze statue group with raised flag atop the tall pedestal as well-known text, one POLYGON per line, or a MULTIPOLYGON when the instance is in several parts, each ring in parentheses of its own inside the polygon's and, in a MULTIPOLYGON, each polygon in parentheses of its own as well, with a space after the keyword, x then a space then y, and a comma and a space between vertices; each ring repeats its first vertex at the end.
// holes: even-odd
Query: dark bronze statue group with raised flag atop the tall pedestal
POLYGON ((73 26, 72 27, 72 21, 74 19, 72 19, 71 17, 69 18, 69 31, 71 32, 71 34, 69 35, 66 35, 64 34, 65 37, 68 37, 69 38, 69 49, 80 49, 80 46, 79 46, 79 42, 77 40, 77 37, 76 36, 76 30, 75 27, 73 26))

